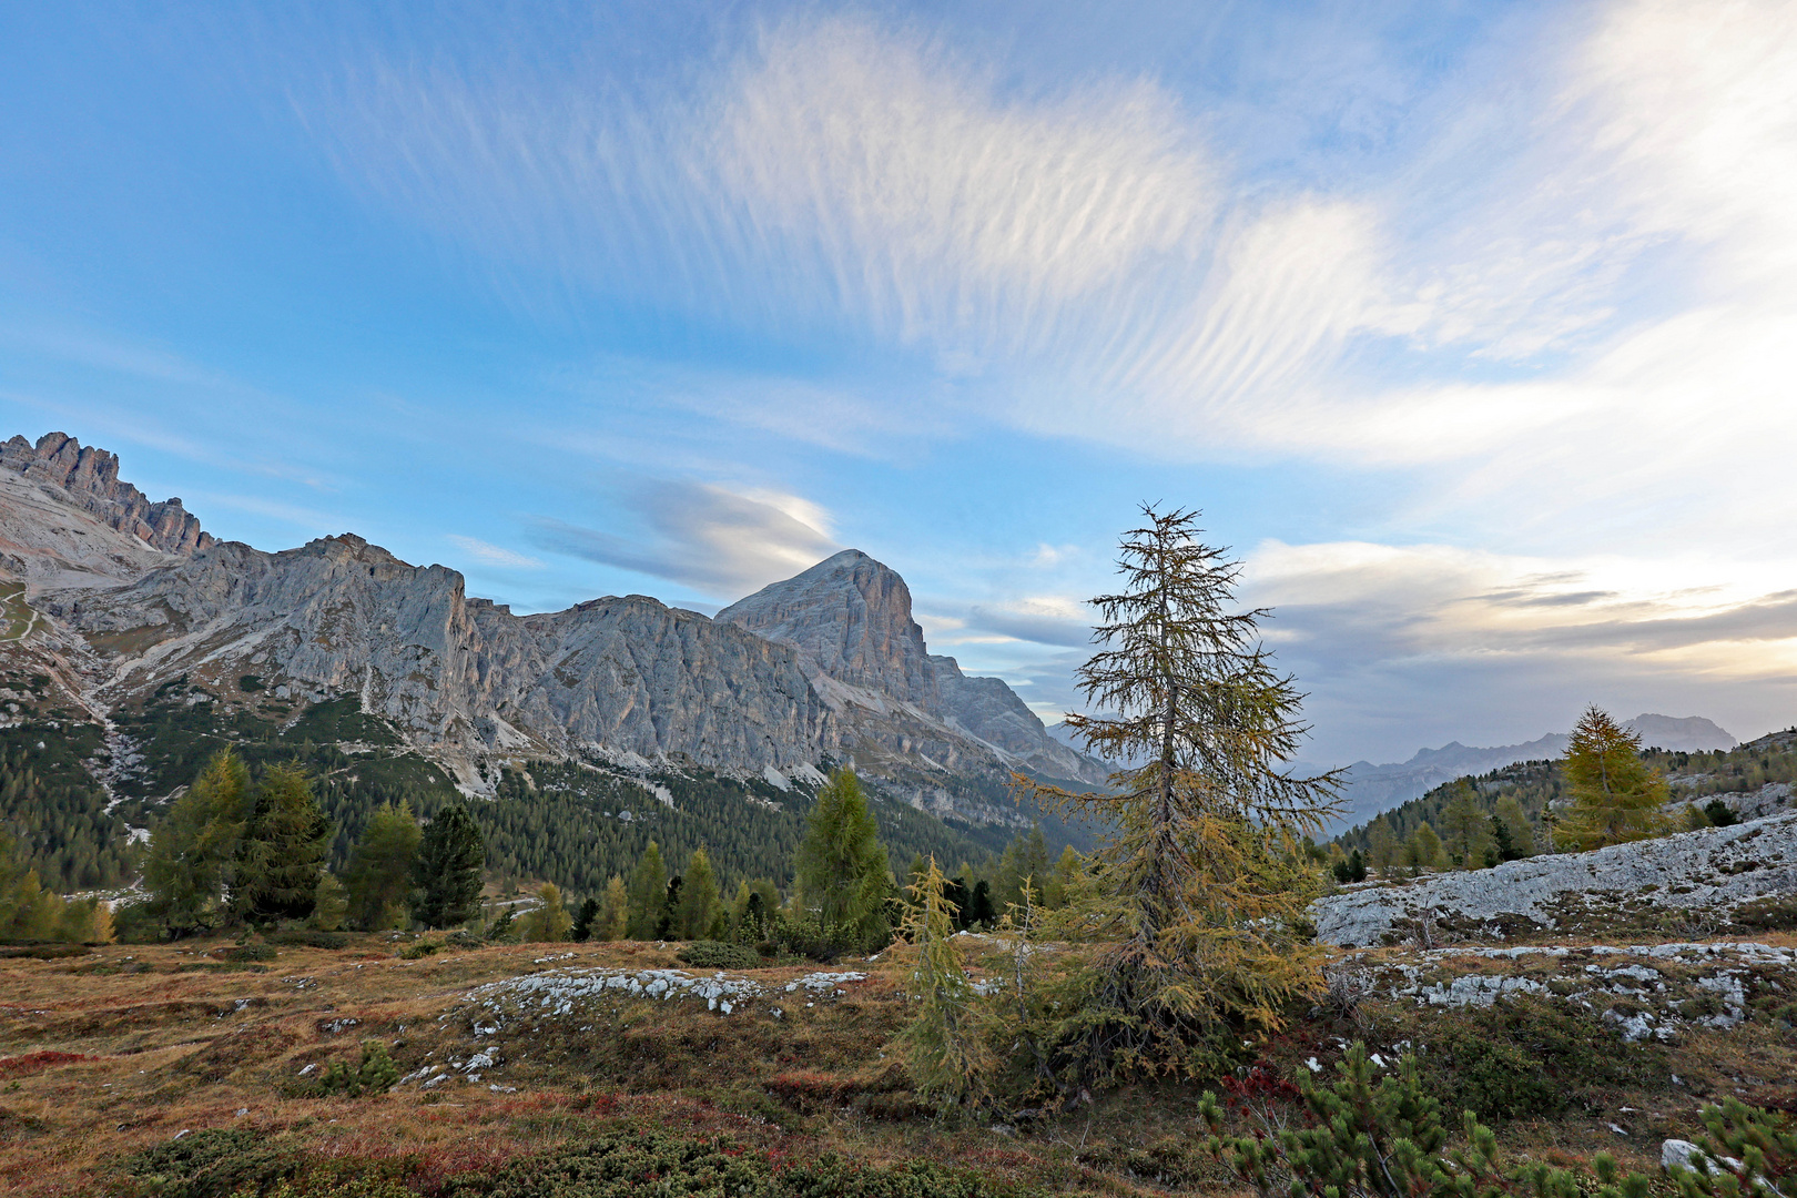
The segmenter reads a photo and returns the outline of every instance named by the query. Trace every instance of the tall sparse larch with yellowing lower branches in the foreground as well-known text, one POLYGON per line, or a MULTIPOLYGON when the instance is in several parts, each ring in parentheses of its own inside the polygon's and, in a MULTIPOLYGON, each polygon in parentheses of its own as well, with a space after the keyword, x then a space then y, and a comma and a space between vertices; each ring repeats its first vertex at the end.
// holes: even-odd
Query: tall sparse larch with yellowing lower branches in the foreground
POLYGON ((1093 605, 1102 648, 1080 668, 1091 711, 1069 715, 1116 763, 1107 792, 1014 776, 1021 794, 1096 814, 1098 909, 1080 912, 1096 959, 1064 1002, 1058 1072, 1102 1081, 1182 1072, 1224 1027, 1269 1031, 1319 986, 1301 932, 1317 875, 1303 841, 1333 814, 1337 778, 1287 767, 1301 695, 1258 639, 1265 611, 1235 602, 1240 564, 1204 544, 1197 512, 1123 535, 1123 589, 1093 605))

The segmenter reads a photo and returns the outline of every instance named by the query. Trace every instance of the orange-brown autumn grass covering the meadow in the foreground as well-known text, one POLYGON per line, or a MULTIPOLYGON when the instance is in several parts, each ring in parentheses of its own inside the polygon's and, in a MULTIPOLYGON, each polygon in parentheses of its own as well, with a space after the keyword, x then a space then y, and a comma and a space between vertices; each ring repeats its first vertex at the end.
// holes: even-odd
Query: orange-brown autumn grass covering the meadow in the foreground
MULTIPOLYGON (((284 1160, 279 1169, 288 1175, 350 1169, 386 1178, 383 1185, 399 1187, 394 1193, 469 1193, 474 1178, 509 1167, 512 1189, 541 1193, 519 1180, 537 1166, 518 1162, 561 1160, 553 1167, 600 1176, 611 1167, 604 1144, 631 1137, 674 1137, 679 1142, 658 1141, 656 1151, 676 1155, 701 1142, 760 1160, 816 1162, 834 1153, 873 1169, 886 1178, 881 1185, 902 1180, 881 1169, 925 1162, 972 1169, 978 1187, 967 1193, 1233 1191, 1195 1150, 1199 1085, 1127 1087, 1017 1126, 938 1121, 911 1094, 890 1049, 907 1013, 898 954, 855 963, 868 979, 814 1006, 805 1006, 803 991, 782 997, 785 982, 818 966, 778 966, 749 973, 775 999, 730 1017, 706 1011, 703 1000, 607 995, 568 1015, 534 1009, 505 1020, 498 1035, 476 1035, 480 1009, 467 993, 482 982, 568 966, 697 970, 676 959, 679 945, 446 945, 413 959, 401 956, 404 947, 386 936, 349 936, 340 948, 280 943, 273 959, 253 963, 226 961, 228 941, 0 959, 0 1191, 147 1194, 162 1182, 133 1173, 129 1162, 158 1151, 162 1160, 199 1133, 244 1133, 239 1139, 261 1153, 255 1160, 284 1160), (575 956, 543 961, 564 952, 575 956), (207 968, 219 965, 237 968, 207 968), (773 1006, 783 1015, 773 1017, 773 1006), (332 1063, 358 1069, 368 1040, 401 1074, 446 1065, 453 1079, 429 1090, 415 1081, 390 1094, 320 1096, 313 1079, 332 1063), (467 1079, 476 1070, 447 1067, 482 1051, 496 1063, 478 1069, 480 1081, 467 1079), (189 1135, 176 1139, 181 1132, 189 1135), (604 1160, 593 1164, 595 1153, 604 1160)), ((1396 950, 1373 956, 1402 959, 1396 950)), ((1524 959, 1518 968, 1533 965, 1524 959)), ((1567 1022, 1547 1004, 1481 1015, 1375 997, 1351 1013, 1299 1015, 1285 1035, 1245 1051, 1261 1076, 1290 1079, 1310 1060, 1330 1067, 1351 1038, 1369 1038, 1387 1056, 1402 1040, 1434 1047, 1436 1061, 1477 1054, 1466 1069, 1481 1070, 1484 1094, 1535 1103, 1508 1119, 1481 1112, 1500 1121, 1502 1142, 1517 1155, 1612 1151, 1650 1169, 1659 1137, 1695 1132, 1700 1097, 1797 1099, 1788 1024, 1770 1013, 1732 1033, 1693 1031, 1651 1049, 1651 1060, 1642 1058, 1651 1067, 1639 1070, 1616 1067, 1619 1042, 1599 1020, 1567 1022), (1556 1076, 1576 1078, 1576 1092, 1531 1081, 1531 1061, 1544 1051, 1554 1054, 1556 1076), (1610 1054, 1607 1072, 1587 1060, 1599 1053, 1610 1054), (1680 1076, 1677 1085, 1671 1074, 1680 1076), (1612 1132, 1612 1123, 1628 1135, 1612 1132)), ((1454 1074, 1434 1081, 1450 1090, 1443 1094, 1450 1108, 1470 1092, 1454 1092, 1457 1081, 1454 1074)), ((196 1150, 203 1142, 212 1141, 196 1150)), ((244 1162, 253 1164, 248 1155, 244 1162)), ((952 1176, 961 1180, 943 1173, 929 1184, 961 1185, 969 1175, 952 1176)))

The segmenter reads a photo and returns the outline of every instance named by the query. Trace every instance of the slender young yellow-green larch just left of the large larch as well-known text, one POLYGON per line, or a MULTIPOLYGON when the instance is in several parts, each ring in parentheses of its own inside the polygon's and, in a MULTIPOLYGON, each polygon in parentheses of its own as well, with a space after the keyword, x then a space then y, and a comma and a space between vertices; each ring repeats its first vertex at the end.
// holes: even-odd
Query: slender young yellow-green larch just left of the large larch
POLYGON ((898 1045, 918 1092, 960 1103, 985 1090, 992 1061, 979 1027, 979 995, 954 943, 958 912, 945 885, 931 857, 924 876, 907 887, 902 932, 916 952, 911 990, 918 1009, 898 1033, 898 1045))

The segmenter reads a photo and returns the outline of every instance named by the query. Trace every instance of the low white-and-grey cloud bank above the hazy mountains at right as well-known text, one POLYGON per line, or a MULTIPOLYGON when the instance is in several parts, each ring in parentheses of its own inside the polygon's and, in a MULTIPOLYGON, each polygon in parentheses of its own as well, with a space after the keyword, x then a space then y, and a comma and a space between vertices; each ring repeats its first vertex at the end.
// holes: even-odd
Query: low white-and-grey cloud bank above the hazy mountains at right
POLYGON ((1244 600, 1272 607, 1263 630, 1312 693, 1321 756, 1527 740, 1594 700, 1739 736, 1797 708, 1797 589, 1777 562, 1267 542, 1244 600))

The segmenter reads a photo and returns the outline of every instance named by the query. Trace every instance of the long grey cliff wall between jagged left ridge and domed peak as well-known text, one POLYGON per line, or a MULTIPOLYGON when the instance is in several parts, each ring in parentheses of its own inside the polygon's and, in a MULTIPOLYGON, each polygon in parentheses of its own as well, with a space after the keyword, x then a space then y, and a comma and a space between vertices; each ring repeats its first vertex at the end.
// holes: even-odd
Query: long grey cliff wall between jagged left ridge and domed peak
POLYGON ((469 600, 456 571, 352 535, 282 553, 226 541, 40 609, 86 638, 108 697, 178 675, 225 695, 244 675, 279 697, 356 693, 471 787, 489 758, 685 753, 760 771, 836 744, 789 648, 645 596, 514 616, 469 600))

